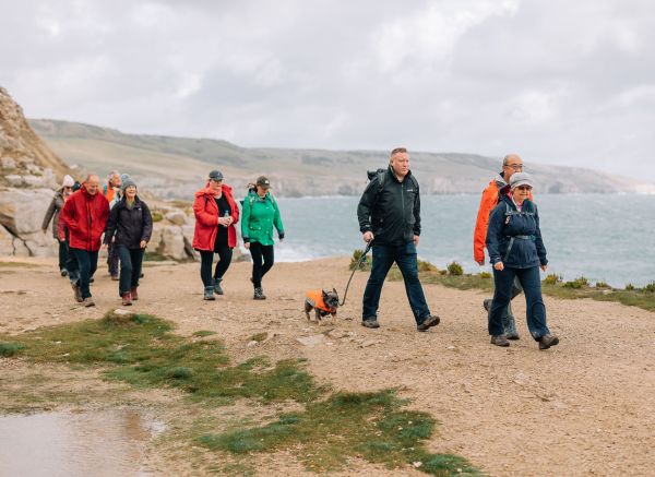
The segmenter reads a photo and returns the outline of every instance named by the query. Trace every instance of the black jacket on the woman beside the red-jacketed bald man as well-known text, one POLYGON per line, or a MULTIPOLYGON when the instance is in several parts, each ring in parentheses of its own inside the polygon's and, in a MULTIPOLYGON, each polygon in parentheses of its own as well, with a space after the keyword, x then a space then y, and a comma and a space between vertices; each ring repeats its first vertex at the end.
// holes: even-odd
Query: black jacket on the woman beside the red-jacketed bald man
POLYGON ((128 249, 139 249, 141 240, 150 241, 153 234, 153 216, 147 204, 135 198, 134 206, 130 210, 123 196, 109 212, 105 228, 105 243, 111 243, 116 234, 116 245, 128 249))

